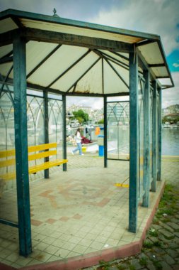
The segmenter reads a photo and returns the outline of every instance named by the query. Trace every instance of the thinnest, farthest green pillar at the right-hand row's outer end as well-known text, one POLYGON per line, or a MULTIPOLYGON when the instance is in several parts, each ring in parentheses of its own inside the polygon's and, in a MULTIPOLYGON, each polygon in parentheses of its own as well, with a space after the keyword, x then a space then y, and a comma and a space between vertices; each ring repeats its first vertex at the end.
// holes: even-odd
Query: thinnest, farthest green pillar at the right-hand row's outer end
POLYGON ((157 180, 161 180, 161 88, 158 89, 158 170, 157 180))

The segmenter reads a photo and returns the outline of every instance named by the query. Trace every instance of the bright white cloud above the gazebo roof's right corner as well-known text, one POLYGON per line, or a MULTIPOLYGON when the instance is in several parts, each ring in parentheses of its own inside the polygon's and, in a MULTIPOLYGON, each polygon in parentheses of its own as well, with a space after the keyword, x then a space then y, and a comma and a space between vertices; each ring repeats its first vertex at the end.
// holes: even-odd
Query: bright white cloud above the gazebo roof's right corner
POLYGON ((178 48, 178 0, 126 0, 125 6, 116 5, 100 11, 94 23, 154 33, 161 36, 166 55, 178 48))

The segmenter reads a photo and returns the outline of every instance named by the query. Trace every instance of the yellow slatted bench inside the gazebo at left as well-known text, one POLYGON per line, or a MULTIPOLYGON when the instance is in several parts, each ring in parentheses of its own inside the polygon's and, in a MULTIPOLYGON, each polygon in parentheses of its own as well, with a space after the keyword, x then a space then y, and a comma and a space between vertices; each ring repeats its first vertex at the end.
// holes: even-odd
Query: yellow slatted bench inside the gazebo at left
MULTIPOLYGON (((35 161, 40 158, 49 158, 57 155, 57 143, 51 144, 40 144, 37 146, 29 146, 28 147, 28 161, 35 161)), ((15 166, 16 158, 15 158, 15 149, 0 151, 0 170, 4 167, 15 166)), ((44 163, 36 164, 34 166, 30 166, 28 168, 28 173, 37 173, 37 171, 46 170, 48 168, 52 168, 54 166, 59 166, 64 163, 67 163, 67 159, 55 159, 53 161, 45 161, 44 163)), ((3 171, 3 170, 2 170, 3 171)), ((8 172, 0 175, 0 179, 11 180, 16 178, 16 173, 8 172)))

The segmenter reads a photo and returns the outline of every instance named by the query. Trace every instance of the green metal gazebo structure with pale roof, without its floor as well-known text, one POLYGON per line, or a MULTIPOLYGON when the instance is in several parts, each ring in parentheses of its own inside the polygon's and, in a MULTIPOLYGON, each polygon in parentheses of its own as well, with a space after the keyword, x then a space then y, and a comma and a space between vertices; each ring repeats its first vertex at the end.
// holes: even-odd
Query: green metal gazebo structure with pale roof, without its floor
POLYGON ((174 86, 160 36, 12 9, 0 13, 0 29, 0 97, 8 94, 14 112, 18 224, 0 222, 18 228, 20 254, 32 252, 27 89, 43 98, 46 144, 48 97, 62 101, 64 159, 67 96, 103 97, 104 167, 108 97, 129 97, 129 232, 135 233, 139 201, 148 207, 149 190, 161 180, 161 93, 174 86))

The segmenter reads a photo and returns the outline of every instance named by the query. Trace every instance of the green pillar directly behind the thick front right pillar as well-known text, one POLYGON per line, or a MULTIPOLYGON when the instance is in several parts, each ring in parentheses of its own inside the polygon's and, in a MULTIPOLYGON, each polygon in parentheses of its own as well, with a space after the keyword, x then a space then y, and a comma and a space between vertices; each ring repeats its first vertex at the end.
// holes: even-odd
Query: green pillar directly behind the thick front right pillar
POLYGON ((150 188, 150 74, 144 70, 144 190, 143 206, 149 207, 150 188))

